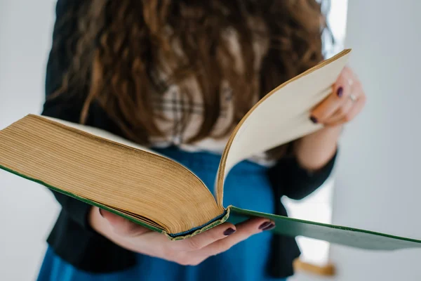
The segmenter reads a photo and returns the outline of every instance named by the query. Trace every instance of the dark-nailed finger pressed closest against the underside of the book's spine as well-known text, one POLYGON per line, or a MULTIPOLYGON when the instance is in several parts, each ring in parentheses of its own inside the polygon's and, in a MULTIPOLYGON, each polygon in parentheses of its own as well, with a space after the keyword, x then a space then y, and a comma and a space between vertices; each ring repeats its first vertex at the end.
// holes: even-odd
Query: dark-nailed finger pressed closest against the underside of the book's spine
POLYGON ((197 251, 208 246, 208 244, 224 239, 235 232, 236 226, 234 226, 234 224, 222 223, 219 226, 215 226, 215 228, 206 230, 205 232, 194 235, 193 237, 175 241, 172 247, 173 249, 177 249, 179 251, 197 251))

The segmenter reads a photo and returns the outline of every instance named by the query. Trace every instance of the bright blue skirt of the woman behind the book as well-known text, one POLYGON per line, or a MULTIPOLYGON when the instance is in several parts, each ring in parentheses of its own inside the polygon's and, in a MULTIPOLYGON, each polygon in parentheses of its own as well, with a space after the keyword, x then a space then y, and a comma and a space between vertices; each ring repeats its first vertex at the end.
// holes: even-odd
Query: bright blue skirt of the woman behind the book
MULTIPOLYGON (((220 155, 208 152, 182 152, 168 148, 157 150, 191 169, 208 187, 213 187, 220 162, 220 155)), ((225 183, 225 205, 274 212, 274 195, 266 169, 253 162, 243 161, 229 173, 225 183)), ((213 191, 213 190, 211 190, 213 191)), ((236 244, 217 256, 211 256, 199 266, 180 266, 177 263, 137 255, 133 268, 116 273, 87 273, 60 259, 48 247, 39 272, 39 281, 269 281, 284 280, 267 276, 271 233, 263 232, 236 244)), ((281 266, 281 265, 280 265, 281 266)))

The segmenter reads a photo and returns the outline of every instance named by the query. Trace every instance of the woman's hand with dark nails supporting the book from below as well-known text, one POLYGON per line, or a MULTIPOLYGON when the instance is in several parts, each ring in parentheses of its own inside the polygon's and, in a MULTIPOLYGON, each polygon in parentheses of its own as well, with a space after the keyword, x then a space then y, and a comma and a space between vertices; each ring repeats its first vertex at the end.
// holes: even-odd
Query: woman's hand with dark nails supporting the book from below
POLYGON ((274 228, 274 223, 266 218, 253 218, 236 226, 222 223, 185 240, 171 241, 161 233, 97 207, 91 209, 90 222, 94 230, 121 247, 185 266, 195 266, 251 235, 274 228))

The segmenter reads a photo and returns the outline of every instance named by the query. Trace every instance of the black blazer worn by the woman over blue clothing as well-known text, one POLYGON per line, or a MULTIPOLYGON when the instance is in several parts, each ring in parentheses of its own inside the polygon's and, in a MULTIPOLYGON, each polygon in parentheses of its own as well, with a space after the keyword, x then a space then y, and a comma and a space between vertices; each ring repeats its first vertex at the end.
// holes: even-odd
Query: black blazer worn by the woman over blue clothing
MULTIPOLYGON (((65 23, 60 20, 66 11, 76 8, 81 1, 83 0, 58 0, 53 39, 58 36, 66 38, 73 34, 76 19, 65 23)), ((55 44, 49 55, 46 71, 47 98, 62 84, 62 77, 74 53, 74 46, 66 43, 55 44)), ((69 122, 79 122, 82 105, 83 98, 63 93, 60 98, 46 99, 42 115, 69 122)), ((90 109, 87 124, 123 136, 116 124, 96 104, 90 109)), ((267 176, 272 183, 274 196, 277 198, 276 214, 287 215, 280 200, 283 195, 300 200, 319 188, 330 175, 335 157, 315 174, 309 174, 302 169, 295 159, 281 159, 276 166, 269 169, 267 176)), ((52 192, 61 204, 62 211, 47 242, 58 256, 76 268, 95 273, 123 270, 135 264, 135 253, 117 246, 89 226, 87 218, 91 207, 88 204, 58 192, 52 192)), ((300 249, 294 237, 274 235, 267 273, 273 277, 293 275, 293 260, 298 256, 300 256, 300 249)))

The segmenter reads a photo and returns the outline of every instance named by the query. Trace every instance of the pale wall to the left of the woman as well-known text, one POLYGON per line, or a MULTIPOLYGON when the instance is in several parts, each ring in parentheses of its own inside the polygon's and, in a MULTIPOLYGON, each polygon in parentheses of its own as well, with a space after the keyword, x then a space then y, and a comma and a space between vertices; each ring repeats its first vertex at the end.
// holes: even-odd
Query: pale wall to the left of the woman
MULTIPOLYGON (((53 0, 0 0, 0 128, 39 113, 53 0)), ((51 192, 0 171, 0 280, 34 280, 58 211, 51 192)))

